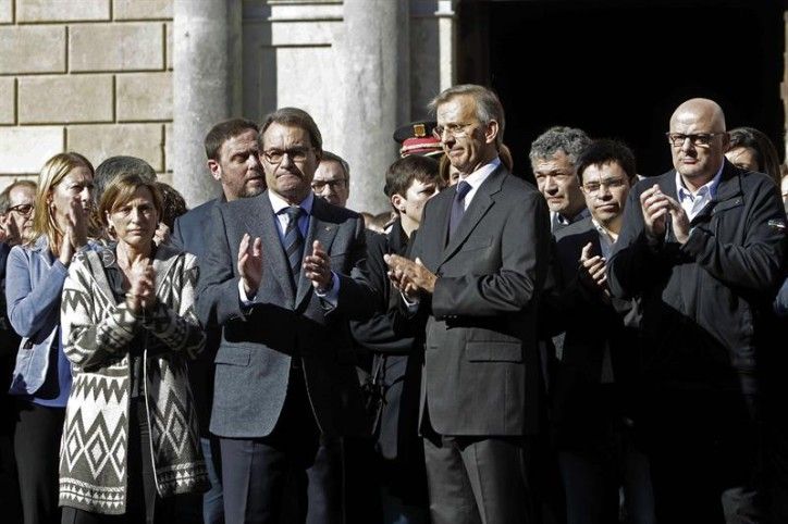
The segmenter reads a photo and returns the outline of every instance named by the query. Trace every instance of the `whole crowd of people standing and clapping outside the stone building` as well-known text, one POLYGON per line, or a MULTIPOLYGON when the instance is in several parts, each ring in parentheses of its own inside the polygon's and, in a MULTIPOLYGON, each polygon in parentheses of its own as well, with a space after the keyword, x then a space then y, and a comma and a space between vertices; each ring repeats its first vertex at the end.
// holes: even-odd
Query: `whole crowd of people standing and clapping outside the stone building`
POLYGON ((788 522, 768 138, 695 98, 664 174, 555 126, 534 185, 491 89, 429 110, 379 214, 297 108, 217 123, 192 210, 133 157, 7 187, 3 521, 788 522))

